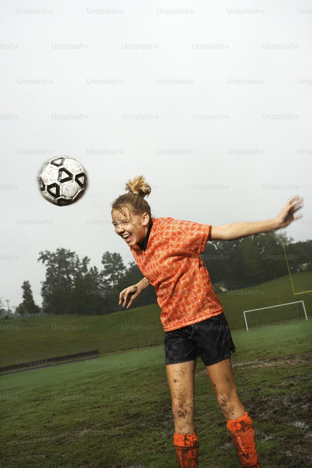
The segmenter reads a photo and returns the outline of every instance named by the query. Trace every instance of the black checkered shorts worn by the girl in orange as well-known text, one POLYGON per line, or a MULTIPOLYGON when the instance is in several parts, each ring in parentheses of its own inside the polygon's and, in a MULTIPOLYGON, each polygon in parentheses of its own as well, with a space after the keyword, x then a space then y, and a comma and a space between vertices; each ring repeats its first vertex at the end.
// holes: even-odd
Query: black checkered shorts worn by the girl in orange
POLYGON ((200 357, 205 366, 211 366, 235 352, 229 324, 219 314, 202 322, 177 330, 165 331, 166 366, 192 361, 200 357))

